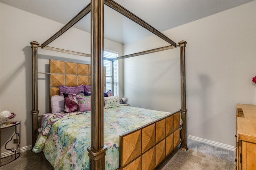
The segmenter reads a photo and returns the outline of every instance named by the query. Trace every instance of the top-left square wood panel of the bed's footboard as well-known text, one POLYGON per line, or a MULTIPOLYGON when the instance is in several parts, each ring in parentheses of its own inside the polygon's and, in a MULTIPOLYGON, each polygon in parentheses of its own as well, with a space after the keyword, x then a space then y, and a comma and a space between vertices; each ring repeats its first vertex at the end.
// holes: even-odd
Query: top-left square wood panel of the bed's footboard
POLYGON ((141 131, 123 137, 122 141, 122 165, 124 166, 141 153, 141 131))

